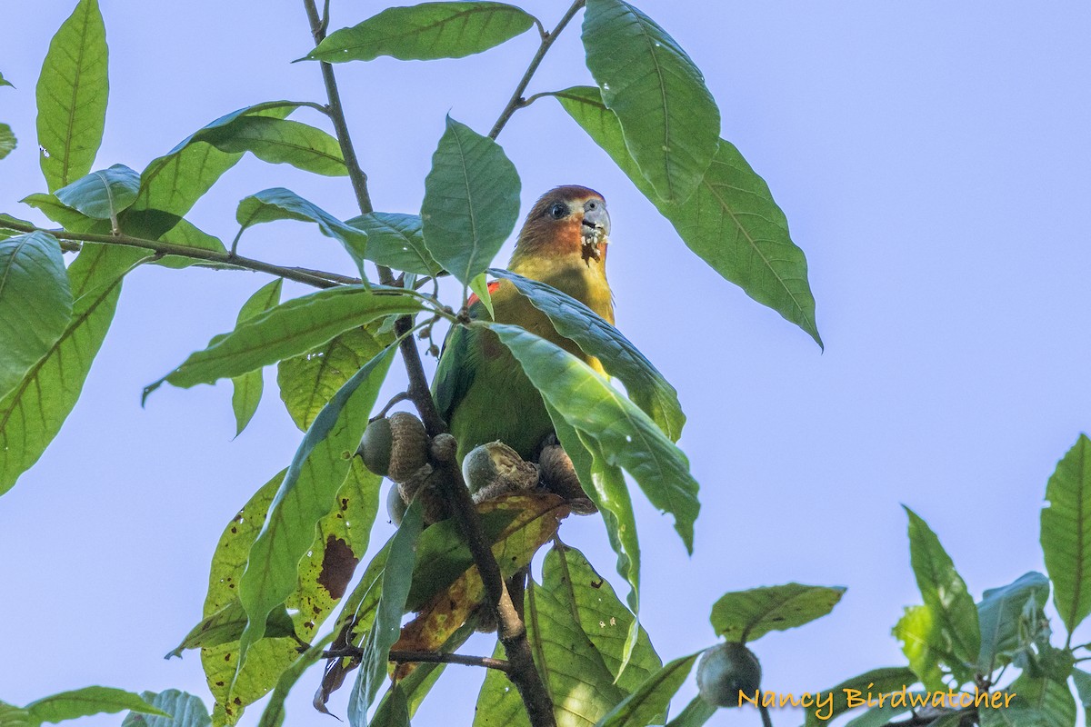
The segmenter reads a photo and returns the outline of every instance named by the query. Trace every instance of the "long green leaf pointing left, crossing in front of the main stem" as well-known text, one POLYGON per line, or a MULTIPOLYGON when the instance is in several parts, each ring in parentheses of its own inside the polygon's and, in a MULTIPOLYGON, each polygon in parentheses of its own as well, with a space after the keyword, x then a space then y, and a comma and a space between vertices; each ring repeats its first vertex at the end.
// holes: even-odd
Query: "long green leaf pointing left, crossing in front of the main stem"
POLYGON ((233 378, 305 353, 350 328, 391 314, 417 313, 420 303, 396 290, 343 286, 296 298, 239 324, 212 340, 181 366, 144 389, 144 398, 164 381, 190 388, 233 378))

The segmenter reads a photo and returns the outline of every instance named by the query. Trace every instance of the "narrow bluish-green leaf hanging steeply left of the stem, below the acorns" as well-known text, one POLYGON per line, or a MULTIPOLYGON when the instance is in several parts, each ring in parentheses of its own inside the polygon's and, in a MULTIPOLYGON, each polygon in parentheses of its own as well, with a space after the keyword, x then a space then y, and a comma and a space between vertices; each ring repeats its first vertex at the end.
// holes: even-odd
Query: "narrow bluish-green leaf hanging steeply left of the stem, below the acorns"
POLYGON ((401 616, 412 584, 415 548, 424 528, 423 507, 419 499, 406 510, 398 532, 391 541, 391 549, 383 569, 382 595, 375 609, 375 621, 364 642, 360 671, 349 695, 348 719, 352 727, 368 724, 368 708, 379 688, 386 680, 386 665, 391 646, 400 633, 401 616))

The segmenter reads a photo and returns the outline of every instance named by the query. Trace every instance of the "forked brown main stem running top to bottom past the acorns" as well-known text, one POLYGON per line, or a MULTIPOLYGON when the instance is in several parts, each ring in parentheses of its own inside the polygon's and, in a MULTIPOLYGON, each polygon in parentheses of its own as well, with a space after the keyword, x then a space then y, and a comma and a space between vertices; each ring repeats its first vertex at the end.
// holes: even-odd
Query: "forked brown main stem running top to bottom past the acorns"
MULTIPOLYGON (((566 17, 571 19, 576 10, 583 5, 583 2, 584 0, 577 0, 566 17)), ((319 15, 315 2, 314 0, 303 0, 303 5, 307 9, 307 16, 311 24, 311 35, 314 37, 315 44, 322 43, 325 38, 325 23, 319 15)), ((564 23, 567 23, 567 20, 558 29, 563 28, 564 23)), ((543 40, 542 43, 544 48, 539 48, 538 54, 531 61, 531 68, 527 70, 524 82, 520 84, 520 89, 516 94, 517 97, 521 95, 521 89, 526 88, 526 83, 530 81, 533 71, 541 63, 541 57, 544 56, 546 50, 552 45, 552 39, 550 38, 548 41, 543 40)), ((348 124, 345 122, 345 112, 340 104, 333 66, 328 63, 322 63, 321 66, 322 77, 326 86, 326 95, 329 100, 329 118, 333 121, 337 140, 340 143, 341 155, 345 157, 345 165, 348 167, 349 178, 356 191, 360 211, 368 214, 372 211, 371 197, 367 185, 368 180, 360 168, 356 153, 352 150, 348 124)), ((514 112, 514 108, 507 112, 507 116, 509 117, 512 112, 514 112)), ((506 122, 506 119, 504 121, 506 122)), ((497 122, 496 134, 500 133, 500 129, 503 125, 502 122, 497 122)), ((394 284, 394 276, 391 269, 385 266, 377 267, 380 281, 384 284, 394 284)), ((404 316, 395 323, 395 331, 398 335, 404 335, 409 330, 411 325, 412 319, 409 316, 404 316)), ((432 393, 428 386, 428 378, 424 376, 424 367, 420 361, 420 351, 417 349, 417 342, 411 337, 405 337, 400 344, 400 351, 406 366, 406 375, 409 378, 407 392, 417 411, 420 413, 421 421, 424 423, 429 436, 435 437, 445 434, 447 425, 436 410, 435 402, 432 400, 432 393)), ((443 448, 434 449, 439 450, 443 448)), ((550 699, 549 692, 546 691, 541 676, 535 667, 533 658, 530 655, 530 644, 527 641, 526 627, 523 625, 523 620, 519 618, 512 603, 511 595, 501 575, 500 567, 496 565, 496 559, 492 554, 491 545, 484 535, 484 531, 481 529, 477 510, 473 509, 473 501, 470 499, 469 489, 467 489, 466 484, 463 482, 461 471, 455 461, 454 449, 447 448, 446 451, 448 452, 446 458, 443 460, 437 459, 434 462, 436 470, 443 473, 443 476, 440 477, 440 486, 442 487, 444 499, 452 511, 452 516, 458 524, 463 536, 466 538, 470 554, 473 557, 473 562, 481 574, 489 603, 496 611, 496 621, 500 625, 500 641, 504 644, 504 651, 509 664, 506 674, 519 690, 519 695, 523 698, 523 703, 526 706, 531 726, 555 727, 556 720, 553 717, 553 701, 550 699)))

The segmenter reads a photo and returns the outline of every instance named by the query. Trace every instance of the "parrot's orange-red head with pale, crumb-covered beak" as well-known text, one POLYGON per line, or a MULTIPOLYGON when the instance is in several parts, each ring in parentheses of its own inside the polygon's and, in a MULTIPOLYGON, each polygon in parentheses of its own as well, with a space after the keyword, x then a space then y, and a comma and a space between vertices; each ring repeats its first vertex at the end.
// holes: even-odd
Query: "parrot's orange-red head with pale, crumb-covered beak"
POLYGON ((586 186, 559 186, 543 194, 527 215, 512 267, 520 259, 541 257, 606 265, 608 242, 610 214, 602 195, 586 186))

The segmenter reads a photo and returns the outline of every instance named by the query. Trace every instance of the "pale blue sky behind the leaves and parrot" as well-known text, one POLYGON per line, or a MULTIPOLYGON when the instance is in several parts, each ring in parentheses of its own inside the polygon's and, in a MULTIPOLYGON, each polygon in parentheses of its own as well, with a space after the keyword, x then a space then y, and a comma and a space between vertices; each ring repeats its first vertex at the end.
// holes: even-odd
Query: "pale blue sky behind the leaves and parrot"
MULTIPOLYGON (((9 4, 0 72, 17 89, 0 89, 0 121, 20 147, 0 161, 0 211, 40 219, 17 204, 45 187, 34 84, 74 3, 9 4)), ((636 497, 643 619, 668 659, 712 643, 708 610, 726 591, 792 580, 846 585, 832 616, 757 643, 765 686, 800 692, 901 664, 889 629, 919 596, 899 504, 931 523, 980 596, 1042 569, 1046 477, 1091 427, 1091 9, 637 4, 702 68, 723 136, 788 215, 826 342, 822 354, 692 255, 551 100, 504 130, 499 141, 521 175, 524 210, 561 183, 606 195, 619 327, 679 389, 690 417, 681 446, 702 484, 696 554, 687 558, 669 519, 636 497)), ((111 97, 98 167, 141 169, 254 102, 321 100, 317 68, 288 63, 310 48, 299 2, 101 5, 111 97)), ((338 27, 382 5, 333 7, 338 27)), ((525 7, 552 26, 567 3, 525 7)), ((457 61, 338 66, 379 209, 419 209, 444 114, 488 131, 536 45, 531 33, 457 61)), ((582 61, 573 26, 530 90, 590 82, 582 61)), ((238 199, 268 186, 355 214, 345 180, 248 158, 191 218, 229 240, 238 199)), ((263 226, 242 244, 276 262, 351 267, 302 225, 263 226)), ((0 700, 21 704, 92 683, 207 699, 195 653, 161 656, 200 618, 223 525, 287 463, 300 434, 271 376, 266 400, 235 441, 229 386, 164 387, 144 410, 140 391, 230 329, 266 280, 164 269, 127 280, 83 399, 39 464, 0 498, 0 700)), ((373 541, 389 532, 380 522, 373 541)), ((562 535, 613 572, 597 520, 572 519, 562 535)), ((479 640, 466 651, 489 649, 479 640)), ((436 693, 454 704, 433 698, 417 723, 448 724, 460 712, 457 724, 468 724, 467 694, 481 676, 448 670, 436 693)), ((300 683, 289 724, 333 724, 309 706, 316 679, 300 683)), ((728 722, 758 717, 721 713, 710 724, 728 722)), ((778 712, 774 723, 799 718, 778 712)))

